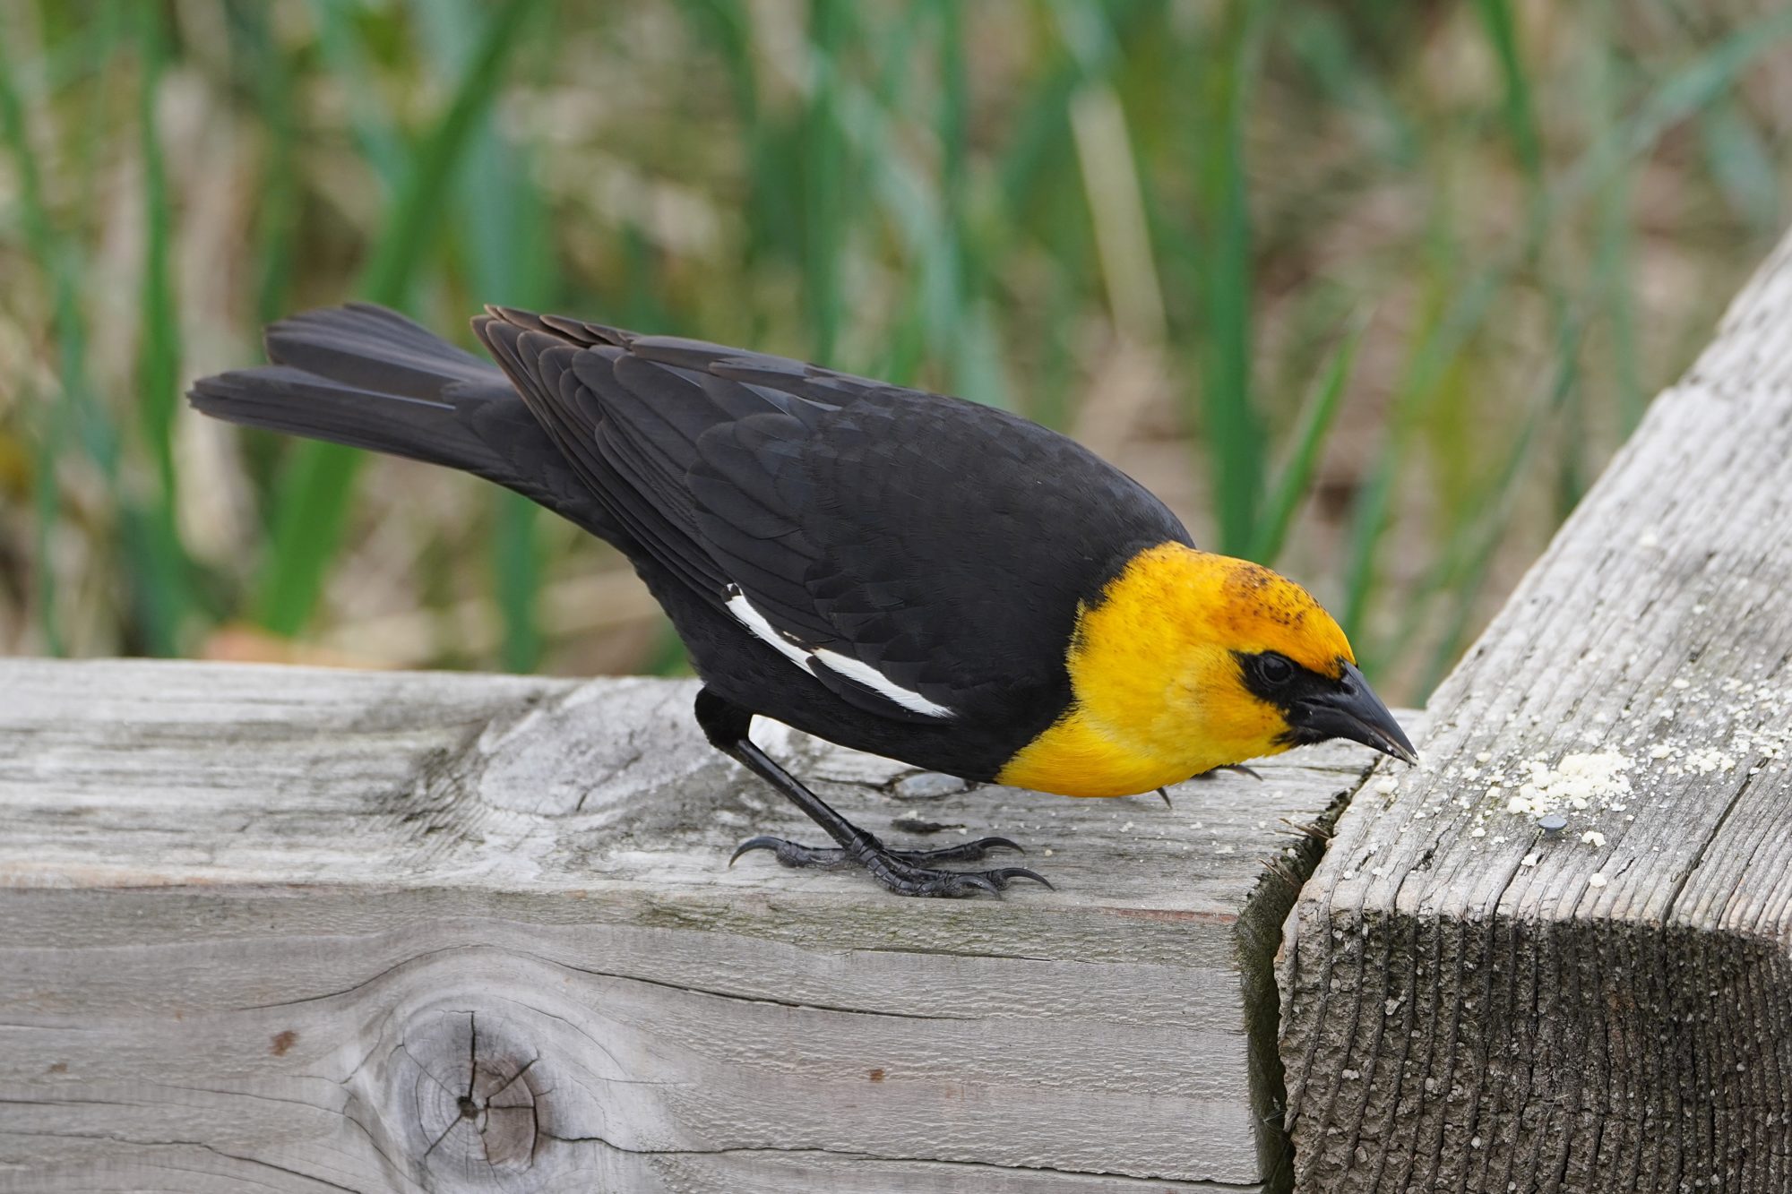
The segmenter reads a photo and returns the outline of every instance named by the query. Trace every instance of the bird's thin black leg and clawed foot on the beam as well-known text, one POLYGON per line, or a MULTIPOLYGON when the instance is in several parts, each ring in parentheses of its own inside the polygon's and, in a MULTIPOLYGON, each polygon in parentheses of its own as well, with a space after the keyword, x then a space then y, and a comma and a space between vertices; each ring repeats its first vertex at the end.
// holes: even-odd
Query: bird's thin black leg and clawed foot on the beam
POLYGON ((998 895, 1014 878, 1030 878, 1050 887, 1043 875, 1023 866, 1002 866, 989 871, 939 871, 934 862, 971 862, 989 850, 1020 850, 1007 837, 982 837, 978 841, 946 846, 943 850, 891 850, 874 834, 858 828, 831 807, 803 787, 803 783, 780 767, 765 751, 753 744, 747 730, 753 714, 724 701, 708 688, 697 694, 697 724, 715 749, 722 751, 742 767, 760 776, 790 803, 801 809, 808 819, 826 830, 837 846, 805 846, 783 837, 751 837, 735 850, 733 862, 749 850, 771 850, 785 866, 862 866, 873 878, 896 895, 925 896, 966 896, 987 891, 998 895))

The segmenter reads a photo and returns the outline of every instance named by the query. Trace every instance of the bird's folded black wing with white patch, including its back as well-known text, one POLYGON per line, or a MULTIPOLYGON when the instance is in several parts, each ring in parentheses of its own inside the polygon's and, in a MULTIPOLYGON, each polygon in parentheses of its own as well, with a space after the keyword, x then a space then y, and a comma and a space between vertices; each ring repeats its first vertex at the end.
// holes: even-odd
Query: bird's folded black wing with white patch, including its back
POLYGON ((1059 688, 1077 602, 1188 541, 1133 479, 989 407, 527 312, 475 326, 658 565, 873 714, 1059 688))

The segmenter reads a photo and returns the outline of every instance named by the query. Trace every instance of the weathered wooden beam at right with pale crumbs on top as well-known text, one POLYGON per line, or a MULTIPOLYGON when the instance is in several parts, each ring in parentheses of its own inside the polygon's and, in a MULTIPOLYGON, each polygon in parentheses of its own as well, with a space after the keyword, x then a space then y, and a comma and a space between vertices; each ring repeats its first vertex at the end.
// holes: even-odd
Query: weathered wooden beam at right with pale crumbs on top
POLYGON ((1788 656, 1792 240, 1303 889, 1297 1189, 1792 1190, 1788 656))

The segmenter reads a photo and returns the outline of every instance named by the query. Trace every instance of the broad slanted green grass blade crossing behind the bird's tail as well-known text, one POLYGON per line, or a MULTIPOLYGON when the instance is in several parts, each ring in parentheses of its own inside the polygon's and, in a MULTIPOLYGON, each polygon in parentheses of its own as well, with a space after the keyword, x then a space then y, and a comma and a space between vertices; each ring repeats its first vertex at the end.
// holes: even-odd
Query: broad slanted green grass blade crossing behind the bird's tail
MULTIPOLYGON (((405 169, 360 285, 375 303, 405 305, 430 237, 441 226, 441 192, 477 118, 496 99, 504 65, 523 25, 539 7, 539 0, 511 0, 493 14, 448 111, 405 169)), ((317 606, 324 575, 342 545, 360 459, 337 445, 306 441, 296 446, 276 489, 269 567, 256 601, 256 617, 269 631, 296 635, 317 606)))

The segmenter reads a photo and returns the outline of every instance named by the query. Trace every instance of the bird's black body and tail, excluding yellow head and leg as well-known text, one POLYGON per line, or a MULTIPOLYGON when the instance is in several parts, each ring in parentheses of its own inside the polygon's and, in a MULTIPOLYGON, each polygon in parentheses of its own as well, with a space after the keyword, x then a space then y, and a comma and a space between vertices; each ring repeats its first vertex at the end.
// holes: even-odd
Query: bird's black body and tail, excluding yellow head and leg
POLYGON ((276 368, 199 382, 235 421, 448 464, 622 550, 704 685, 855 749, 989 780, 1070 703, 1077 604, 1174 515, 1072 439, 781 357, 498 310, 502 373, 376 307, 269 330, 276 368), (521 400, 518 400, 521 398, 521 400), (858 660, 928 715, 806 651, 858 660))

